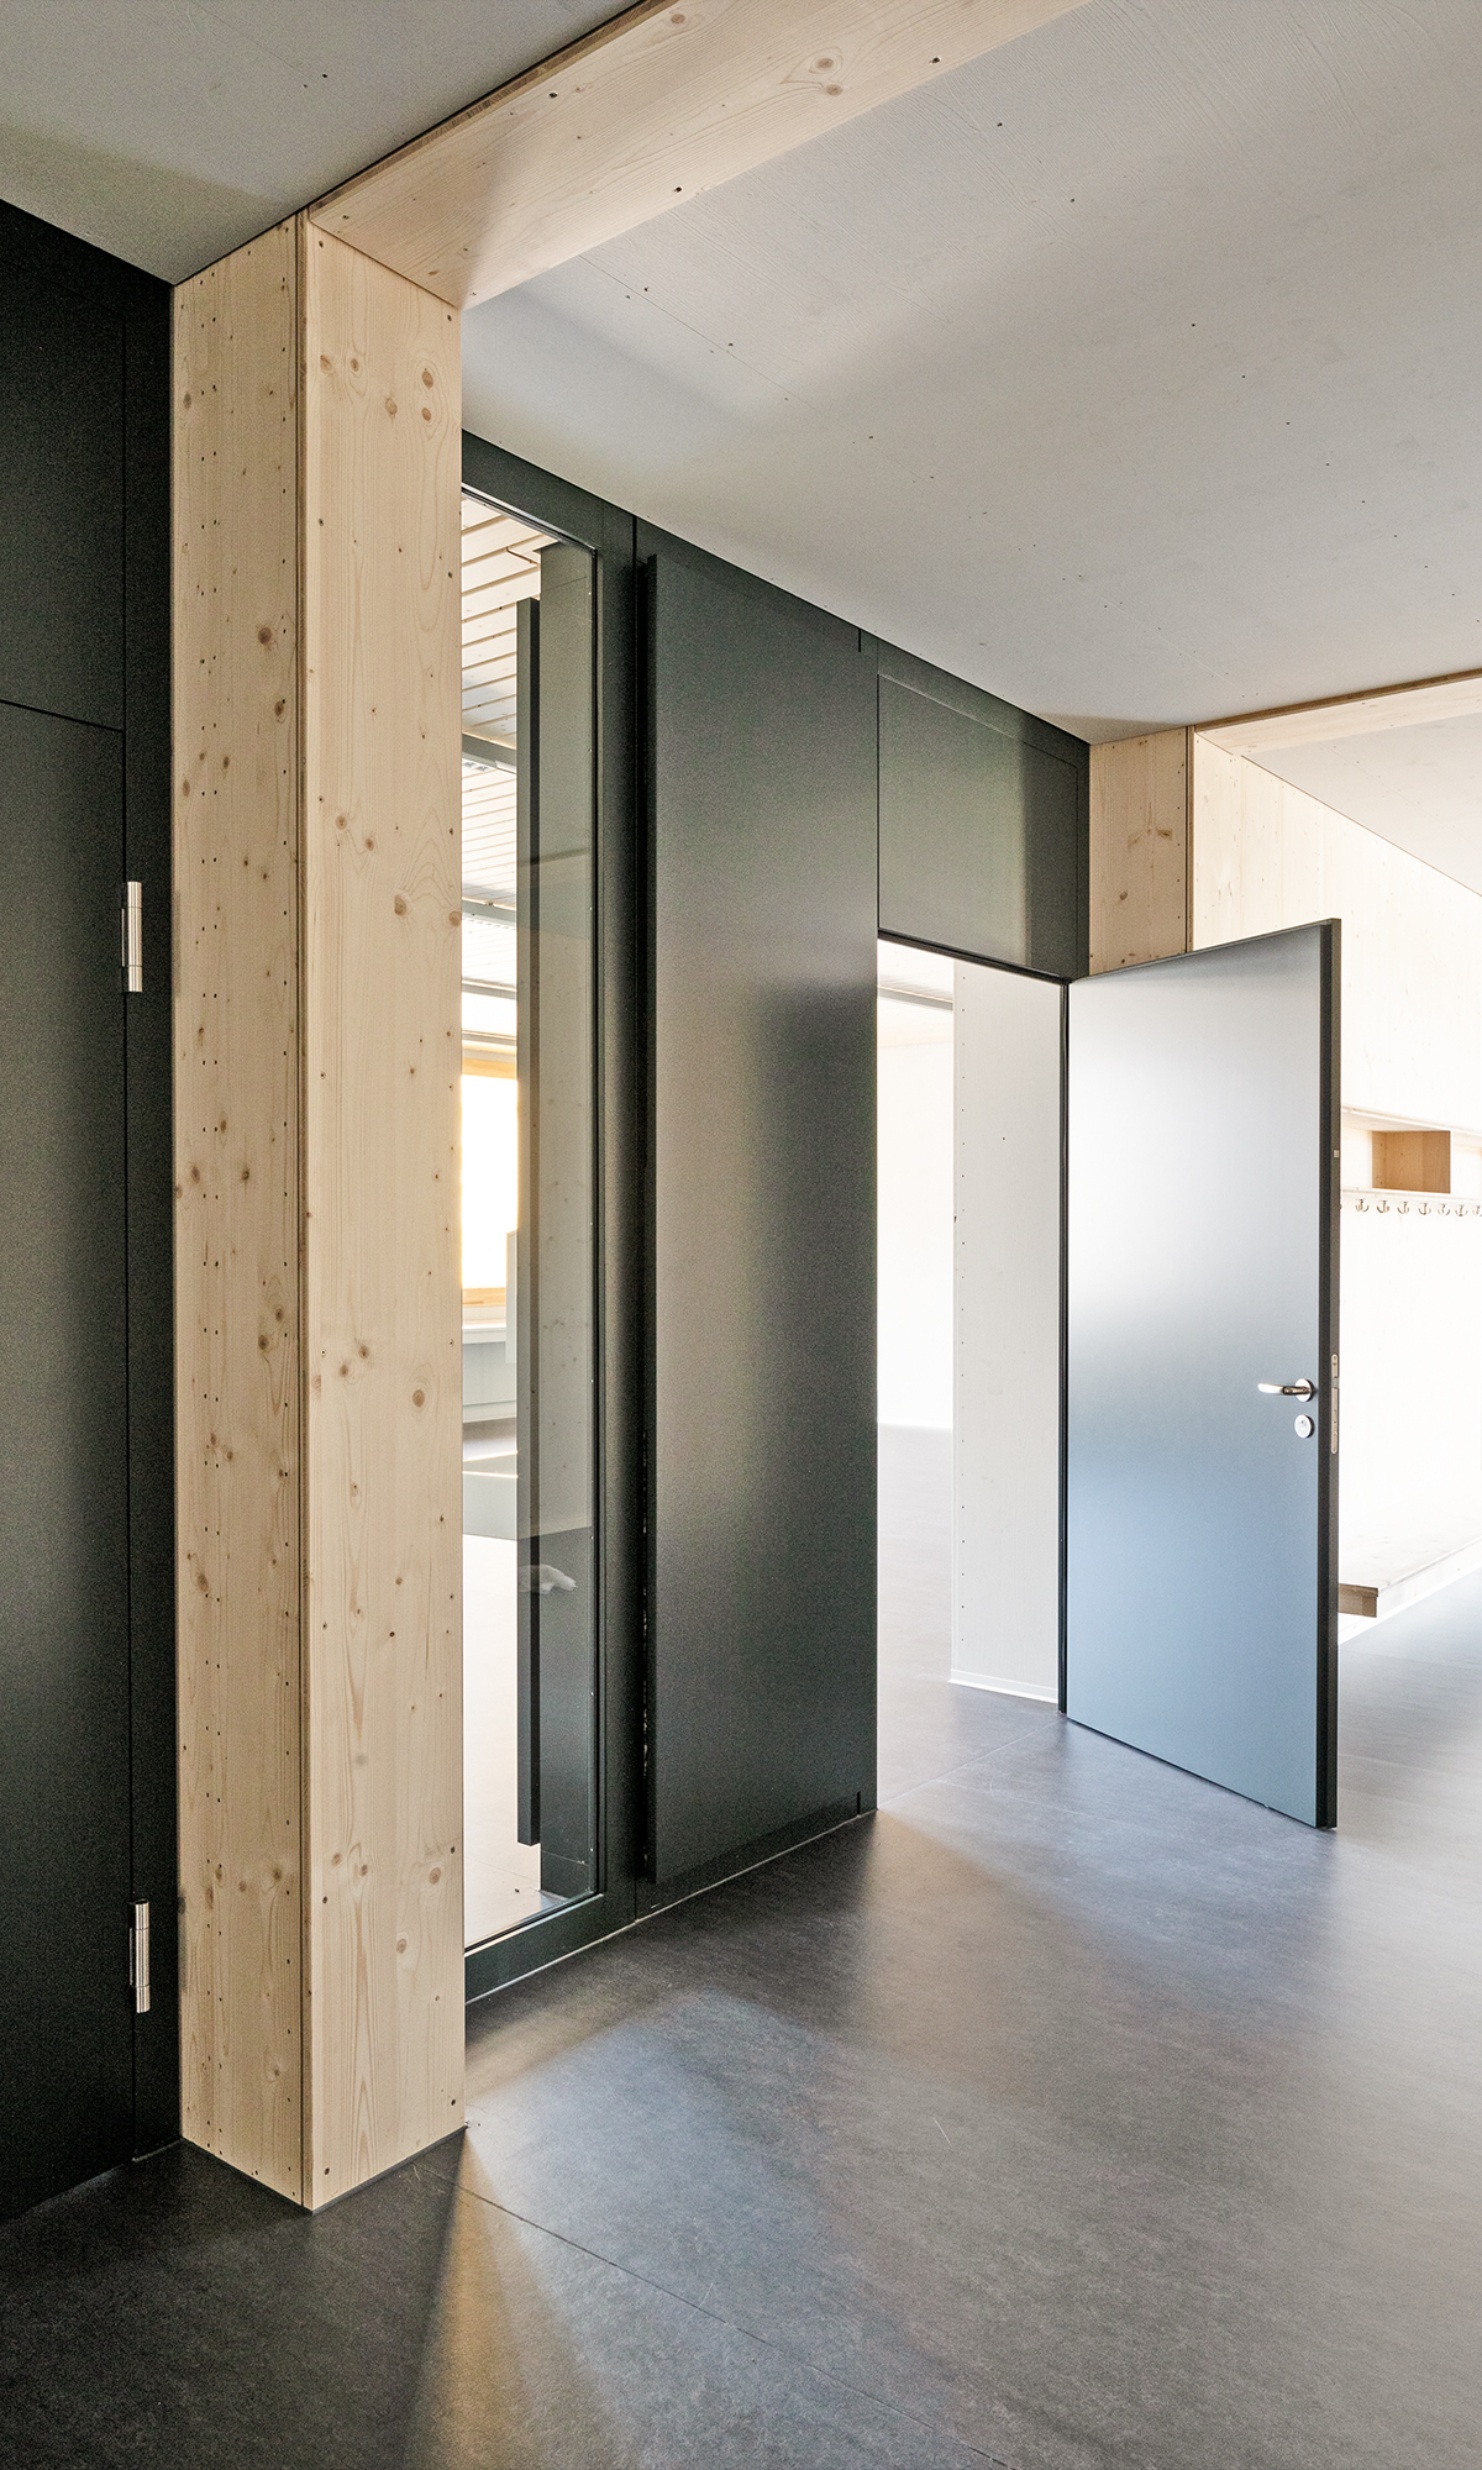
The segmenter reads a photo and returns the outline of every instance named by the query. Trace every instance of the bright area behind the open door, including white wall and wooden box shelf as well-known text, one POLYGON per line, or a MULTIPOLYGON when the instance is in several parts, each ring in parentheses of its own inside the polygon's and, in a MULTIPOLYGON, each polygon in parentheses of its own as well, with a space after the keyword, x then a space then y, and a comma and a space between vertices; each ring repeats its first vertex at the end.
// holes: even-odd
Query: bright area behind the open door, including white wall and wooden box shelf
POLYGON ((1482 721, 1423 692, 1191 743, 1191 941, 1341 919, 1344 1640, 1482 1564, 1482 721))

